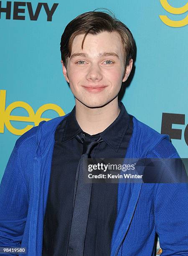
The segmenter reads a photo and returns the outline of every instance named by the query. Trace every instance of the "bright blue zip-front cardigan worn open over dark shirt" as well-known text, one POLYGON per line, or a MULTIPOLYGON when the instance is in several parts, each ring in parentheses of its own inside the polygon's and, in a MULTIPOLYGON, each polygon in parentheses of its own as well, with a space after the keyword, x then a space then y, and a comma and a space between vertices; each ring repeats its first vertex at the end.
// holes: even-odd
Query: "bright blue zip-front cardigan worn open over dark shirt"
MULTIPOLYGON (((20 136, 5 169, 0 185, 0 246, 26 247, 27 253, 19 255, 42 255, 54 133, 67 115, 42 121, 20 136)), ((168 135, 135 117, 125 157, 179 158, 168 135)), ((188 255, 188 184, 119 183, 111 256, 154 255, 155 232, 163 256, 188 255)))

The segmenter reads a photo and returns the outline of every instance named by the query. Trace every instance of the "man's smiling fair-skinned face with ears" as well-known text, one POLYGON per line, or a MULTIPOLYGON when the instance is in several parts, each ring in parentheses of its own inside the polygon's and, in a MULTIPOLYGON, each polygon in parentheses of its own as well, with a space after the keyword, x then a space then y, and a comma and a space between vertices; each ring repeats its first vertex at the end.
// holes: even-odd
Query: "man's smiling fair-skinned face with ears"
POLYGON ((122 82, 132 69, 132 60, 124 74, 124 52, 119 33, 84 34, 74 38, 67 70, 63 73, 76 100, 87 107, 102 107, 117 97, 122 82), (68 76, 67 76, 68 73, 68 76))

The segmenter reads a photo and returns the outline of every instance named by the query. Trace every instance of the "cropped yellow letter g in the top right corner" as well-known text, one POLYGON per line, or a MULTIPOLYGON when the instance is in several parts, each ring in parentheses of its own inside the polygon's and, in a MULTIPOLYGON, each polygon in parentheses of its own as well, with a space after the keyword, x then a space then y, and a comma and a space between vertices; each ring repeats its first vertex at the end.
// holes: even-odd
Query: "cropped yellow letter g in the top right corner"
MULTIPOLYGON (((188 3, 179 8, 172 7, 171 5, 169 5, 167 0, 160 0, 160 3, 163 8, 169 13, 182 14, 188 11, 188 3)), ((183 20, 170 20, 166 15, 159 15, 159 17, 163 21, 163 23, 170 27, 179 28, 188 24, 188 15, 183 20)))

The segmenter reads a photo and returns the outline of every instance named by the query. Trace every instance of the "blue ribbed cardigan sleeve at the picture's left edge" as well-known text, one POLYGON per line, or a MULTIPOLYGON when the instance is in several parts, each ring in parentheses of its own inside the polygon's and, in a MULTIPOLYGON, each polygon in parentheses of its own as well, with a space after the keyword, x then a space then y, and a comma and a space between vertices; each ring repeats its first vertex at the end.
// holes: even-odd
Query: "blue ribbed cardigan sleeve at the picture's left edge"
POLYGON ((28 192, 15 144, 0 184, 0 247, 20 246, 27 212, 28 192))

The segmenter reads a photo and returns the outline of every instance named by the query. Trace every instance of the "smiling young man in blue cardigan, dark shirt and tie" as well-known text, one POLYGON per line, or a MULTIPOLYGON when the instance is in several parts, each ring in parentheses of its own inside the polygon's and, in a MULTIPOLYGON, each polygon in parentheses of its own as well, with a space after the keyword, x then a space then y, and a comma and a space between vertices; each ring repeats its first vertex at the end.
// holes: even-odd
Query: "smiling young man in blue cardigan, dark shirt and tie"
POLYGON ((76 104, 16 141, 0 187, 0 246, 30 256, 149 256, 158 233, 162 255, 188 255, 187 184, 81 178, 87 157, 179 158, 169 136, 118 101, 133 48, 130 30, 107 13, 66 26, 61 63, 76 104))

